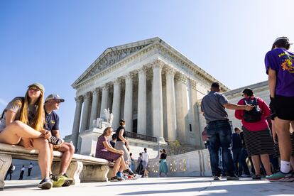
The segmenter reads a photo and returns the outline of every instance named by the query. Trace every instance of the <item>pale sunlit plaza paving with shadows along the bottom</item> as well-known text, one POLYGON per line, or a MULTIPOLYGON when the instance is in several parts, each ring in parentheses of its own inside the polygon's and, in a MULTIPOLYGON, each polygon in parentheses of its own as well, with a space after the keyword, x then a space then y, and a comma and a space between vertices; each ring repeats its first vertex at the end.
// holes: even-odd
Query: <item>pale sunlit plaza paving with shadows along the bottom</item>
POLYGON ((124 182, 81 183, 70 187, 40 190, 40 180, 5 181, 1 196, 57 195, 294 195, 294 183, 241 178, 238 181, 213 181, 212 178, 141 178, 124 182))

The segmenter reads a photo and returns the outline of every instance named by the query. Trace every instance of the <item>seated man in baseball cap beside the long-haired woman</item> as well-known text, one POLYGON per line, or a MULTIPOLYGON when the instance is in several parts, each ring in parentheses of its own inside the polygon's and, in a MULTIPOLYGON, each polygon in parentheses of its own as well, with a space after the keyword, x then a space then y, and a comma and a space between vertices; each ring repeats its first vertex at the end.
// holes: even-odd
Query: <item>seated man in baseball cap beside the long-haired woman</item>
MULTIPOLYGON (((45 99, 45 129, 51 131, 51 134, 57 138, 60 138, 59 132, 59 116, 54 110, 59 109, 60 103, 65 102, 58 94, 49 94, 45 99)), ((50 145, 51 150, 62 152, 60 170, 58 175, 51 174, 53 179, 53 187, 69 186, 70 179, 66 175, 72 155, 75 153, 75 146, 72 143, 64 142, 61 145, 50 145)), ((53 153, 51 153, 51 163, 53 161, 53 153)))

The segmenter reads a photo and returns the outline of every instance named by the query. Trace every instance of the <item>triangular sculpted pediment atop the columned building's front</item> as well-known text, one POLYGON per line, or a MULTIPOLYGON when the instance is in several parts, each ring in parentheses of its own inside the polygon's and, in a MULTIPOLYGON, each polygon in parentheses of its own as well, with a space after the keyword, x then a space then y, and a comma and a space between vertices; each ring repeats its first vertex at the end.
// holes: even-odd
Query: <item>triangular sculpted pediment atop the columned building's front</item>
POLYGON ((99 72, 111 67, 116 62, 123 60, 124 58, 129 57, 130 55, 137 53, 142 48, 145 48, 147 45, 160 40, 159 38, 151 38, 148 40, 141 40, 135 43, 129 43, 125 45, 114 46, 107 48, 107 50, 102 53, 102 55, 95 60, 92 65, 87 68, 87 70, 72 84, 72 86, 78 85, 81 82, 89 79, 90 77, 96 75, 99 72))

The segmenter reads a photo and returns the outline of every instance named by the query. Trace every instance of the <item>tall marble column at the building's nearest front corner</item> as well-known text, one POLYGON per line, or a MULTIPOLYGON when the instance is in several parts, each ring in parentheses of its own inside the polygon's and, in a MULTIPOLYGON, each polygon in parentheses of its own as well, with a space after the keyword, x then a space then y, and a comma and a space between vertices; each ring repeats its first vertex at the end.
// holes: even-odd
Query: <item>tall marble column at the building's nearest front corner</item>
POLYGON ((158 142, 165 142, 163 138, 163 87, 161 71, 163 63, 156 61, 153 64, 153 134, 158 138, 158 142))

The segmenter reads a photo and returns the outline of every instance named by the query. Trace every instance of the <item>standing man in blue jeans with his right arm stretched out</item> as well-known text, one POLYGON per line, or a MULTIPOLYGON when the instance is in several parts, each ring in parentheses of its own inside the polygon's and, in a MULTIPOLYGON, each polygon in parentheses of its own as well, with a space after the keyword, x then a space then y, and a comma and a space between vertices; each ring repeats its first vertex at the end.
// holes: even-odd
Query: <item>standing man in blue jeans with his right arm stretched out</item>
POLYGON ((212 175, 214 180, 219 180, 222 170, 219 168, 219 148, 222 148, 222 160, 224 161, 227 180, 239 180, 234 174, 234 162, 229 147, 232 143, 232 129, 229 124, 227 109, 246 109, 250 111, 253 107, 249 105, 236 105, 229 103, 224 94, 219 93, 218 82, 213 82, 211 91, 202 99, 201 111, 207 121, 207 135, 209 145, 212 148, 210 158, 212 164, 212 175))

